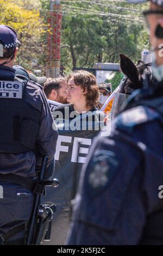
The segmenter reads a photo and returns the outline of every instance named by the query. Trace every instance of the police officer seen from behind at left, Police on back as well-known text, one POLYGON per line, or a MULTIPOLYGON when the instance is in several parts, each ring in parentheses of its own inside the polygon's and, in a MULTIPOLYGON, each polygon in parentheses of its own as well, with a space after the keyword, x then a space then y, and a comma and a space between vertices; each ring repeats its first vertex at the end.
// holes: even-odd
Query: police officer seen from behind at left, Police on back
POLYGON ((0 244, 3 245, 26 243, 34 194, 28 186, 21 186, 20 178, 34 181, 35 170, 39 174, 44 156, 48 156, 45 176, 51 178, 53 168, 49 166, 54 162, 58 138, 41 86, 26 76, 15 76, 16 70, 12 69, 19 43, 14 29, 0 25, 0 244))

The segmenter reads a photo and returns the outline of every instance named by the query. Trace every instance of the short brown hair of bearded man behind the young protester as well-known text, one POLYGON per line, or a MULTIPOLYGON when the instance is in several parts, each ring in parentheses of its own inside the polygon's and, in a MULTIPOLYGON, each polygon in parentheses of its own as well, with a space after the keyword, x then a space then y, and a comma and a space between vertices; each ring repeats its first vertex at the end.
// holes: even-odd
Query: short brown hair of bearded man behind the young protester
POLYGON ((45 92, 46 97, 48 97, 52 90, 60 89, 60 83, 66 82, 67 78, 65 77, 57 77, 57 78, 48 78, 47 82, 44 83, 43 91, 45 92))

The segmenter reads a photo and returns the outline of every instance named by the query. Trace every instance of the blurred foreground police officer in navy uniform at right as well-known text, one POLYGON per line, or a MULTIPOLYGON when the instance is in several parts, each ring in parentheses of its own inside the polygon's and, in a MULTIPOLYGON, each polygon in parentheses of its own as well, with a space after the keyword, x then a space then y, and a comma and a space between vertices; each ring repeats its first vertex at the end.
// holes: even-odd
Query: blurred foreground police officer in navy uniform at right
POLYGON ((151 0, 143 14, 159 82, 131 95, 111 135, 93 142, 68 245, 163 245, 163 1, 151 0))

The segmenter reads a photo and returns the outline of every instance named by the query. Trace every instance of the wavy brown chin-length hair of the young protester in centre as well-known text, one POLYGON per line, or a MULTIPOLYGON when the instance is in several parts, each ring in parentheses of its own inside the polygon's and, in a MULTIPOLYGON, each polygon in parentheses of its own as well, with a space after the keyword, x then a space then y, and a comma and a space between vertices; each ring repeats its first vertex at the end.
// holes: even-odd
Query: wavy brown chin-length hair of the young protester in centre
POLYGON ((70 78, 74 79, 76 86, 83 88, 83 92, 87 89, 86 97, 86 106, 90 109, 97 106, 97 100, 99 97, 99 90, 96 81, 96 77, 88 71, 85 70, 76 70, 70 74, 67 78, 67 83, 70 78))

